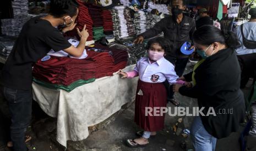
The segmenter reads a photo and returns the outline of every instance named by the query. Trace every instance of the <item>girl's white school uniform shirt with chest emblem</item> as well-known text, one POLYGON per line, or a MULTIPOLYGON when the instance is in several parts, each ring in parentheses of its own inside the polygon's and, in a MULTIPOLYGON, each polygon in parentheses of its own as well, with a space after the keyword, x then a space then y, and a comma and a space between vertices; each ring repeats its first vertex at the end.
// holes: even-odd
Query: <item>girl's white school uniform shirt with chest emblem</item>
POLYGON ((170 84, 175 84, 179 78, 175 66, 164 57, 151 63, 148 57, 142 57, 134 68, 139 73, 139 79, 148 83, 162 83, 167 79, 170 84))

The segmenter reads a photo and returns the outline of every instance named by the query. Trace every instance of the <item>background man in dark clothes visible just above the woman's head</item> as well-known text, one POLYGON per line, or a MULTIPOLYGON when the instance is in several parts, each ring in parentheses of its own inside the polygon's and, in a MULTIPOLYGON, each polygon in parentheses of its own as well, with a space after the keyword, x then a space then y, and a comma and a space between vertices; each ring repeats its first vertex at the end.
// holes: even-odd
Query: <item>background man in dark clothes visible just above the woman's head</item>
POLYGON ((208 15, 208 11, 206 8, 201 8, 198 11, 199 19, 195 21, 195 25, 197 29, 204 25, 213 25, 213 19, 208 15))

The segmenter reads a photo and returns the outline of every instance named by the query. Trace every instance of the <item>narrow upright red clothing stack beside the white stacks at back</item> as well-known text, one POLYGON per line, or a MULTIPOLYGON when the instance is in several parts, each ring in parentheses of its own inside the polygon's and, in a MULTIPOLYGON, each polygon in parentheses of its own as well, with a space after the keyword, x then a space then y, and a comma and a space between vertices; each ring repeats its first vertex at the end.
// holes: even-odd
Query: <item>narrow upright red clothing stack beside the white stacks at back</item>
POLYGON ((113 21, 110 10, 102 10, 103 28, 104 32, 113 31, 113 21))

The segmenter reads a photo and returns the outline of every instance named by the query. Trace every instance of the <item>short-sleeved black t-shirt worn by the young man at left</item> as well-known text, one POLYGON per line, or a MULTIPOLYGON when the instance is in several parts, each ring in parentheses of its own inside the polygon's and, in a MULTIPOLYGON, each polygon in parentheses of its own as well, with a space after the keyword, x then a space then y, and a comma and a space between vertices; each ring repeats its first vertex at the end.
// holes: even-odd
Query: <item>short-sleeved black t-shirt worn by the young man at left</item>
POLYGON ((20 90, 31 89, 32 66, 51 49, 64 50, 71 46, 57 28, 40 17, 23 26, 2 71, 3 85, 20 90))

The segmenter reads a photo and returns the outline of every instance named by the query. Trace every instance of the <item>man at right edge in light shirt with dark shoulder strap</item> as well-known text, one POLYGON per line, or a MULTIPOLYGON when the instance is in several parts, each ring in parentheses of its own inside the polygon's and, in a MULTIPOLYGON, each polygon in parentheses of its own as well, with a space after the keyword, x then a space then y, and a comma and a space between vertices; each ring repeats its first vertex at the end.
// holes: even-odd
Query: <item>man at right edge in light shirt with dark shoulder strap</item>
POLYGON ((242 47, 236 50, 239 64, 241 66, 241 88, 244 88, 249 80, 250 75, 253 75, 254 65, 256 62, 256 8, 249 10, 250 21, 244 23, 237 28, 237 36, 242 43, 242 47), (243 29, 244 38, 241 29, 243 29), (244 43, 244 39, 254 41, 255 47, 248 47, 244 43))

